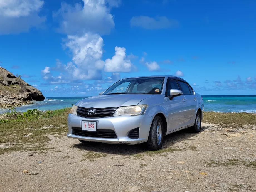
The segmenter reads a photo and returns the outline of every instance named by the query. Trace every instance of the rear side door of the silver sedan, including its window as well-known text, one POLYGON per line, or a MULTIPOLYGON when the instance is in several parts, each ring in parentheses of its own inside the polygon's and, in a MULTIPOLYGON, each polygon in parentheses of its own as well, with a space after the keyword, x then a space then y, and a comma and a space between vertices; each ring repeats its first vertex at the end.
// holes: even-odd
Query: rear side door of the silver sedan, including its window
POLYGON ((193 124, 195 121, 197 97, 193 89, 188 83, 178 80, 178 84, 184 96, 186 97, 186 104, 187 104, 186 119, 187 119, 187 125, 190 125, 190 124, 193 124))

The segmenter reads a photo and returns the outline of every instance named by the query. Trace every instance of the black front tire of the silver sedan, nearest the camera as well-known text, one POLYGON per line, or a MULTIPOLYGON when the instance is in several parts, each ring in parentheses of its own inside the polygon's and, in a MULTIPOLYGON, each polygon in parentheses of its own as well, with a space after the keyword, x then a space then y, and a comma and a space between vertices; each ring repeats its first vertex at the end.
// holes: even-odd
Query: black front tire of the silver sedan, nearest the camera
POLYGON ((151 151, 157 151, 162 148, 163 146, 163 135, 164 135, 164 126, 163 121, 161 117, 156 116, 151 124, 149 136, 147 140, 147 147, 151 151), (159 126, 160 125, 160 126, 159 126), (158 127, 158 133, 157 133, 157 126, 161 128, 161 139, 157 137, 159 133, 159 127, 158 127))

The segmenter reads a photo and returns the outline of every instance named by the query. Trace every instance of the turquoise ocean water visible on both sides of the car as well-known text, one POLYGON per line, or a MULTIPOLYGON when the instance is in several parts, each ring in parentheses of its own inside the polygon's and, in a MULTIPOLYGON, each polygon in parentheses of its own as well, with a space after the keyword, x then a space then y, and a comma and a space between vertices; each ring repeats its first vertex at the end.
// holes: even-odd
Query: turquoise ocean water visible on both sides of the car
MULTIPOLYGON (((33 104, 17 107, 17 110, 24 112, 35 108, 43 111, 62 109, 72 107, 72 104, 84 98, 87 97, 46 97, 44 101, 35 101, 33 104)), ((203 100, 205 111, 256 113, 256 95, 206 95, 203 100)), ((8 111, 9 109, 0 109, 0 114, 8 111)))

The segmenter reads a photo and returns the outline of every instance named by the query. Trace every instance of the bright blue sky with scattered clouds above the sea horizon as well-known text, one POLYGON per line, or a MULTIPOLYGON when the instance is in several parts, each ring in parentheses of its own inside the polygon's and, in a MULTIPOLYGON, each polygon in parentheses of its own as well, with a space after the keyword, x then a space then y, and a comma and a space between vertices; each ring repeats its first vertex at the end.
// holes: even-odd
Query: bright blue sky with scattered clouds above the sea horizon
POLYGON ((256 1, 2 0, 1 65, 45 96, 178 75, 201 95, 256 94, 256 1))

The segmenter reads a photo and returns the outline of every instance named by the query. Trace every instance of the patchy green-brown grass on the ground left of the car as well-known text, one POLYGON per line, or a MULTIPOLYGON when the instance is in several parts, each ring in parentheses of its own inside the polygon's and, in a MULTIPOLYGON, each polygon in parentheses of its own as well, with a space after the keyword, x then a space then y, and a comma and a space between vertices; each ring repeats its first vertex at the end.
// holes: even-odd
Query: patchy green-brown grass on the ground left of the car
POLYGON ((0 148, 0 154, 12 151, 47 151, 46 147, 49 140, 46 135, 67 133, 67 116, 70 108, 51 111, 49 114, 43 113, 39 119, 31 115, 23 115, 22 119, 11 118, 7 122, 0 123, 0 144, 10 143, 7 148, 0 148), (45 119, 46 118, 46 119, 45 119), (49 127, 53 125, 53 127, 49 127), (60 126, 64 125, 64 126, 60 126), (42 129, 43 127, 49 127, 42 129), (27 129, 28 128, 28 129, 27 129), (29 133, 28 137, 24 137, 29 133), (13 136, 16 134, 16 136, 13 136))

